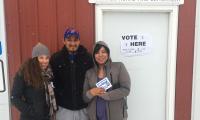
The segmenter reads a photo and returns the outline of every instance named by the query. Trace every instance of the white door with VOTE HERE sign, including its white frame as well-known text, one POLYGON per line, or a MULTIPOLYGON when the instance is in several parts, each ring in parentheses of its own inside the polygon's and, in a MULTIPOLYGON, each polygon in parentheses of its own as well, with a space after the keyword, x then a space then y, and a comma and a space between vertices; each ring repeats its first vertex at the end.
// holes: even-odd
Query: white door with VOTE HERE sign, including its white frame
POLYGON ((177 16, 157 9, 96 6, 96 40, 131 76, 128 120, 174 119, 177 16))

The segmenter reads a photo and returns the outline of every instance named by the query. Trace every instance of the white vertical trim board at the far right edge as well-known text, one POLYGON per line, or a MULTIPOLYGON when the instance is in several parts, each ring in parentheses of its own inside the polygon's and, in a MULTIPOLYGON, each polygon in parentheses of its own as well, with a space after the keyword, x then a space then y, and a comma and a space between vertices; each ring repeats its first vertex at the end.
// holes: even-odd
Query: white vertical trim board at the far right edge
POLYGON ((195 45, 193 64, 192 115, 191 120, 200 120, 200 2, 196 4, 195 45))

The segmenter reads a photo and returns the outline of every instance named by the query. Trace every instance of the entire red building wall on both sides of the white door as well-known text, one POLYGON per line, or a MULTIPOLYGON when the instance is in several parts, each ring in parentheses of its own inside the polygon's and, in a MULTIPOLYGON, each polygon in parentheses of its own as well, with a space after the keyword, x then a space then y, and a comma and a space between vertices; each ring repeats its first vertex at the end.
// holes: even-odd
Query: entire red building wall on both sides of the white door
MULTIPOLYGON (((20 64, 31 55, 38 42, 46 44, 51 52, 63 45, 66 27, 80 31, 81 43, 90 51, 94 43, 94 5, 88 0, 4 0, 10 86, 20 64)), ((196 0, 185 0, 180 7, 175 120, 191 119, 193 47, 196 0)), ((19 120, 12 109, 13 120, 19 120)))

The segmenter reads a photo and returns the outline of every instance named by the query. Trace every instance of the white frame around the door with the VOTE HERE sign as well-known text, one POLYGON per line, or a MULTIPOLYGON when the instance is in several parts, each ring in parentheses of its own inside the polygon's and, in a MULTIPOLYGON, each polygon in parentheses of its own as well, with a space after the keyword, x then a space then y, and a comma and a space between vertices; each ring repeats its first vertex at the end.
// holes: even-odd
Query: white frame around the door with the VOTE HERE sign
POLYGON ((95 38, 103 40, 103 14, 105 11, 159 12, 169 14, 167 82, 166 82, 166 120, 174 120, 175 81, 178 31, 178 6, 137 6, 137 5, 95 5, 95 38))

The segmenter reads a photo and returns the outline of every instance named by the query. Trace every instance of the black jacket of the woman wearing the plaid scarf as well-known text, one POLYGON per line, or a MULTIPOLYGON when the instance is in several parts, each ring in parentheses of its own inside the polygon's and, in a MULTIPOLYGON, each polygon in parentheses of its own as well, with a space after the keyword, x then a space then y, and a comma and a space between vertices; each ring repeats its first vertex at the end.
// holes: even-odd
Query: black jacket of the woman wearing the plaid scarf
POLYGON ((45 89, 27 85, 23 71, 14 78, 11 103, 21 112, 20 120, 49 120, 45 89))

